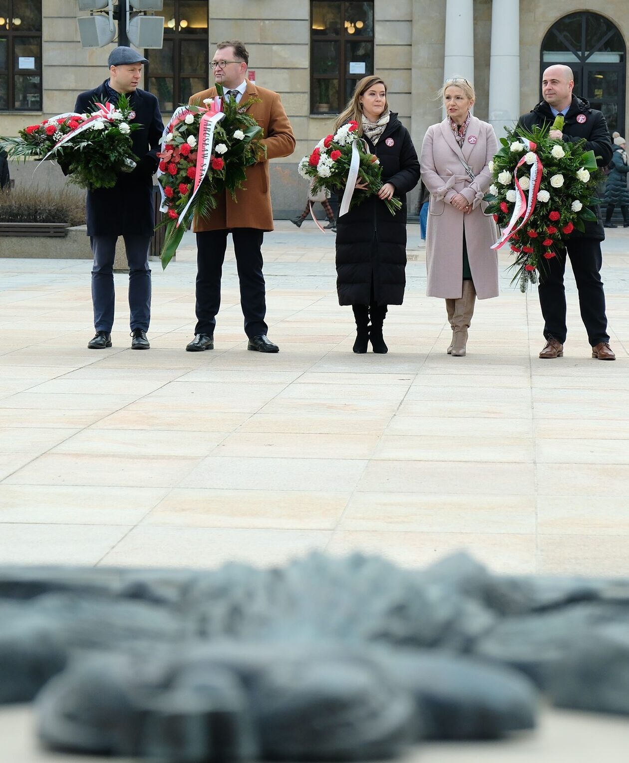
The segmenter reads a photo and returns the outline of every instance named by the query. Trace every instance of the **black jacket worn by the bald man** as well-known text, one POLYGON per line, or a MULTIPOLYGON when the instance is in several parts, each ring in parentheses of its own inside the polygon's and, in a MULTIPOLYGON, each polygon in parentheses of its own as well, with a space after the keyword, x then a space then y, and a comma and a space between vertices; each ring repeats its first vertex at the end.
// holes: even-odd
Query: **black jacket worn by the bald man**
MULTIPOLYGON (((586 140, 586 151, 594 151, 599 167, 608 166, 611 161, 612 144, 602 111, 590 108, 586 98, 577 98, 576 95, 573 95, 573 101, 566 112, 565 120, 563 123, 563 141, 575 143, 576 140, 586 140)), ((534 124, 542 126, 553 124, 554 121, 555 118, 553 112, 550 111, 550 106, 546 101, 541 101, 533 111, 521 116, 518 124, 523 124, 530 130, 534 124)), ((589 238, 599 241, 605 238, 599 207, 592 208, 592 212, 596 214, 597 221, 584 223, 586 230, 583 233, 575 230, 571 233, 573 238, 589 238)))

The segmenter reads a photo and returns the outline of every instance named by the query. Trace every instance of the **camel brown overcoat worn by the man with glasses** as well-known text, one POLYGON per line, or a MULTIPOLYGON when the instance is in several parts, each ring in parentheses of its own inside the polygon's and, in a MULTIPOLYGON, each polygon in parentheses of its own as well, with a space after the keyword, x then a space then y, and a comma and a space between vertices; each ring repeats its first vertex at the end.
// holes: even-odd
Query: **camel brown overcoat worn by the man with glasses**
MULTIPOLYGON (((205 98, 217 95, 216 88, 195 93, 189 103, 202 105, 205 98)), ((247 169, 244 188, 236 192, 236 201, 229 192, 217 198, 217 208, 210 217, 194 217, 192 230, 224 230, 226 228, 257 228, 273 230, 273 211, 268 172, 268 159, 289 156, 295 150, 293 128, 282 106, 278 93, 247 82, 241 103, 251 97, 261 98, 246 110, 262 127, 262 143, 267 147, 267 161, 258 162, 247 169)))

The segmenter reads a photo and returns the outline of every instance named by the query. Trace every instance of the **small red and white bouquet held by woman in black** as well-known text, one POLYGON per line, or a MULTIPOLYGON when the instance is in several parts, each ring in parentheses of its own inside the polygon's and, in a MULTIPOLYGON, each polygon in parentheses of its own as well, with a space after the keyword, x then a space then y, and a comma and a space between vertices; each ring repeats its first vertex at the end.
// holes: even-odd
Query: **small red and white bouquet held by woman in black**
MULTIPOLYGON (((304 156, 297 166, 299 174, 313 182, 313 195, 322 189, 342 194, 339 217, 382 188, 380 159, 368 150, 357 130, 358 122, 343 124, 334 135, 319 140, 310 156, 304 156), (357 179, 367 188, 355 188, 357 179)), ((402 208, 396 197, 384 199, 384 203, 391 214, 402 208)))

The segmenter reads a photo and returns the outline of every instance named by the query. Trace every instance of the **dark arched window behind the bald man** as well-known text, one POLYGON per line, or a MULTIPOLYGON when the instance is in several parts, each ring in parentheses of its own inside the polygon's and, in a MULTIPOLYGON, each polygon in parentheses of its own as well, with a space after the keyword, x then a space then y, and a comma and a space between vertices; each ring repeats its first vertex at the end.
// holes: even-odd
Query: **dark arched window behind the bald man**
POLYGON ((605 114, 610 132, 624 134, 625 56, 618 27, 598 13, 571 13, 556 21, 541 45, 541 70, 564 63, 574 72, 574 93, 605 114))

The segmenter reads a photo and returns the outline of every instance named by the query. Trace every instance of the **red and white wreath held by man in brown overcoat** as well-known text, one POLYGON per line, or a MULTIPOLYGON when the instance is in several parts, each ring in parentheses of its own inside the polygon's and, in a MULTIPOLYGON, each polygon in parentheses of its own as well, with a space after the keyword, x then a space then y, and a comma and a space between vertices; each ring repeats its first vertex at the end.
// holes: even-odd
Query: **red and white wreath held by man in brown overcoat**
POLYGON ((157 178, 162 190, 160 210, 167 214, 162 247, 162 268, 168 265, 181 237, 195 214, 210 217, 217 207, 217 195, 244 188, 246 168, 265 159, 260 143, 262 127, 246 113, 254 103, 225 101, 223 87, 217 85, 215 98, 204 105, 180 106, 164 129, 157 178))

